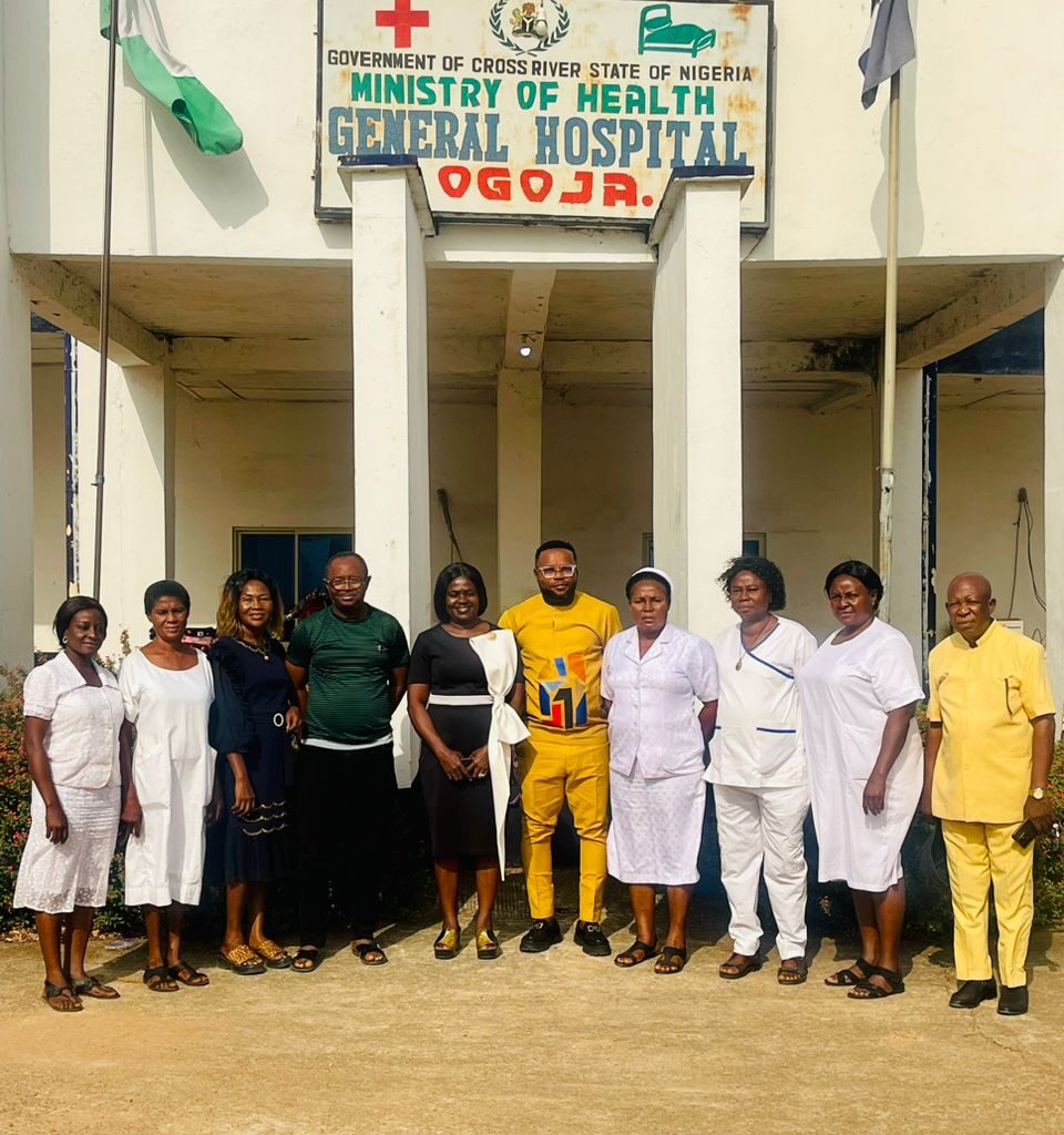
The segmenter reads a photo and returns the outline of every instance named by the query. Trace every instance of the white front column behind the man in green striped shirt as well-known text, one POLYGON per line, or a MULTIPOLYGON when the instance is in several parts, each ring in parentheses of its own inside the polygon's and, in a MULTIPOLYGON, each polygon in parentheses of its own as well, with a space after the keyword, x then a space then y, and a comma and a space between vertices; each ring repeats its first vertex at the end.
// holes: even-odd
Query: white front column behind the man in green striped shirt
MULTIPOLYGON (((369 599, 413 638, 434 620, 429 563, 429 396, 424 232, 403 169, 347 178, 352 200, 355 548, 369 599)), ((416 746, 396 714, 396 775, 416 746)))

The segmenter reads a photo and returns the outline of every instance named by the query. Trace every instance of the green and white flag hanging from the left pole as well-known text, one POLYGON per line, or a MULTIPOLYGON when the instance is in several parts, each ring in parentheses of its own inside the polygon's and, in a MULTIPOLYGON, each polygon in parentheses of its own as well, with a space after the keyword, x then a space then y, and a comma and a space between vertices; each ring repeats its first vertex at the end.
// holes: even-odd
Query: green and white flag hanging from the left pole
MULTIPOLYGON (((175 59, 163 42, 155 6, 144 0, 118 3, 118 42, 134 77, 185 127, 204 153, 233 153, 244 144, 244 134, 228 110, 175 59)), ((100 34, 111 33, 112 0, 100 0, 100 34)))

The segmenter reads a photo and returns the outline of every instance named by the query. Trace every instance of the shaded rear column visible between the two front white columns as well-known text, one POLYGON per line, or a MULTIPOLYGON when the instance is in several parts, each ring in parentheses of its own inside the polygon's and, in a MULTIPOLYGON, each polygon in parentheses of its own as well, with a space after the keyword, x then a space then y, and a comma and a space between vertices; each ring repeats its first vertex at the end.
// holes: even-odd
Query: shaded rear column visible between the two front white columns
POLYGON ((535 590, 532 554, 542 539, 543 376, 500 370, 496 404, 499 595, 505 611, 535 590))

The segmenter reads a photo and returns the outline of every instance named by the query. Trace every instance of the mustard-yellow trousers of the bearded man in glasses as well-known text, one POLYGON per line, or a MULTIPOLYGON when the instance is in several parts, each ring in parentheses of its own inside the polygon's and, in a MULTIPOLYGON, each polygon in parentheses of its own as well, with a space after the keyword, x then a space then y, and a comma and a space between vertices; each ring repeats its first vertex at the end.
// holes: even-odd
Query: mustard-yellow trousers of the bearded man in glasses
POLYGON ((580 733, 544 734, 532 730, 517 756, 524 823, 521 857, 533 918, 555 915, 550 838, 561 805, 568 801, 580 835, 580 917, 602 918, 606 886, 606 816, 609 806, 609 742, 605 730, 594 739, 580 733))

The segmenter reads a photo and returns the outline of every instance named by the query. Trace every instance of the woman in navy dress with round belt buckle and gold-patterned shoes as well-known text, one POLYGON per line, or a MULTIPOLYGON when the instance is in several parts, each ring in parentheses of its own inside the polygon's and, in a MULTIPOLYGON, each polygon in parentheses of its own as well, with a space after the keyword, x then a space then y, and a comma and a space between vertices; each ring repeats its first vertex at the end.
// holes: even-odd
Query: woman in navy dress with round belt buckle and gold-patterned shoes
POLYGON ((301 722, 285 648, 273 637, 281 615, 269 575, 235 572, 222 588, 218 639, 209 651, 216 691, 210 741, 226 809, 226 935, 219 953, 238 974, 292 965, 265 933, 267 884, 290 871, 285 754, 301 722))

